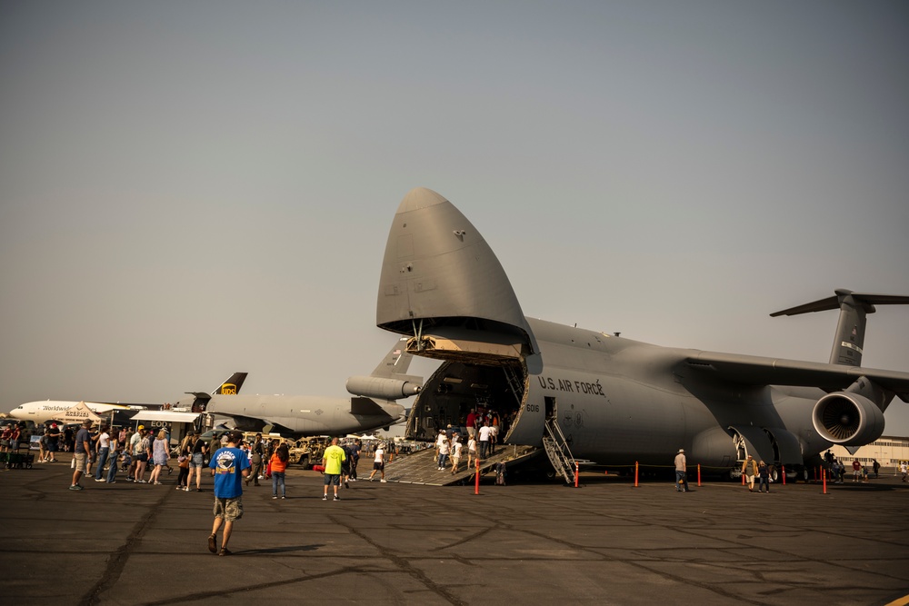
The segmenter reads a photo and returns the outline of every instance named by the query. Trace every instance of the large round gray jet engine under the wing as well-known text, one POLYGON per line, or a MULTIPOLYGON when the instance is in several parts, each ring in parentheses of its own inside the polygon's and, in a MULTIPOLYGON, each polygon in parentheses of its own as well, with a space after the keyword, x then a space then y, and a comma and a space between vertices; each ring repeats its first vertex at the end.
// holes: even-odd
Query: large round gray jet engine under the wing
POLYGON ((884 433, 884 412, 857 393, 828 393, 814 404, 811 422, 824 440, 843 446, 868 444, 884 433))

